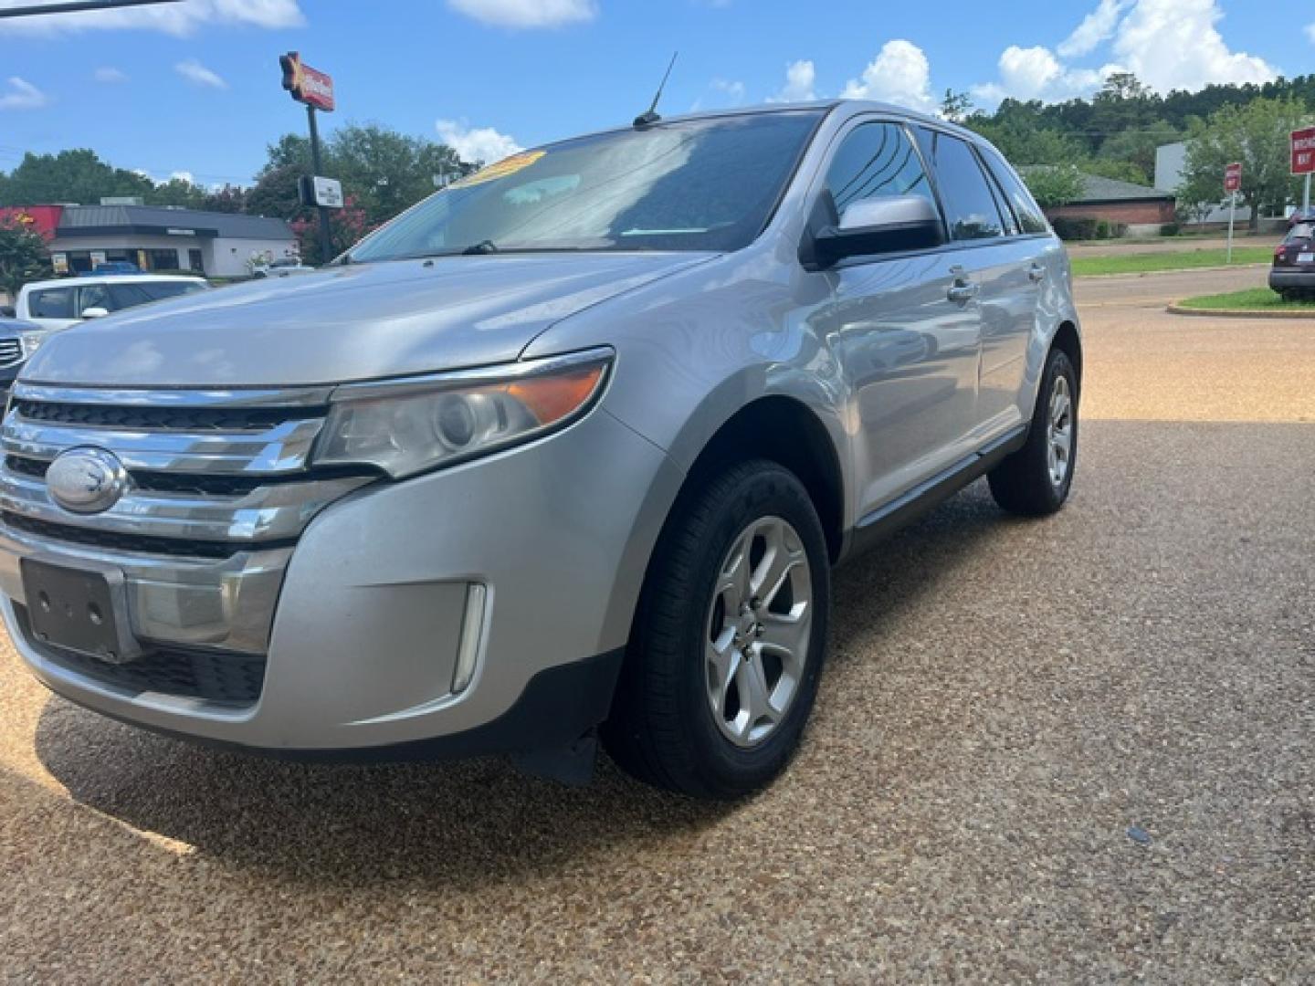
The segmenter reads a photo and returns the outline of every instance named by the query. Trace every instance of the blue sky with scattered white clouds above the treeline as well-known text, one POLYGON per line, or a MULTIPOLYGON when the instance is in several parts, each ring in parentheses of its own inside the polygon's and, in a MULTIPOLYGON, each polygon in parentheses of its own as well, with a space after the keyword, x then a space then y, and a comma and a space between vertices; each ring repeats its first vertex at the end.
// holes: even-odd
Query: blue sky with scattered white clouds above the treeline
MULTIPOLYGON (((32 0, 0 0, 0 8, 32 0)), ((1088 96, 1315 72, 1312 0, 181 0, 0 20, 0 168, 91 147, 158 180, 250 183, 304 133, 277 57, 330 72, 338 112, 467 159, 629 122, 673 51, 661 109, 857 96, 919 109, 947 88, 1088 96)))

